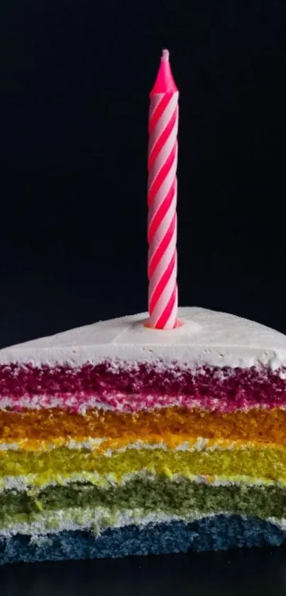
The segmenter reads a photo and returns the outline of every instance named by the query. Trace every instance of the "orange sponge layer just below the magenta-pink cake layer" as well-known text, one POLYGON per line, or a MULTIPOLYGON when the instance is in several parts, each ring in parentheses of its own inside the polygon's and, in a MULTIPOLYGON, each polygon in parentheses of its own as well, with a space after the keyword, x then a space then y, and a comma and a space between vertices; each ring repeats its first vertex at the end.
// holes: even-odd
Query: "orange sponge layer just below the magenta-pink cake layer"
POLYGON ((83 442, 89 437, 106 438, 111 440, 110 446, 119 447, 138 439, 177 447, 197 437, 213 444, 221 440, 226 445, 234 441, 286 445, 286 410, 218 413, 176 407, 139 413, 91 410, 86 415, 57 409, 0 412, 1 443, 18 442, 27 449, 38 449, 48 443, 60 447, 71 439, 83 442))

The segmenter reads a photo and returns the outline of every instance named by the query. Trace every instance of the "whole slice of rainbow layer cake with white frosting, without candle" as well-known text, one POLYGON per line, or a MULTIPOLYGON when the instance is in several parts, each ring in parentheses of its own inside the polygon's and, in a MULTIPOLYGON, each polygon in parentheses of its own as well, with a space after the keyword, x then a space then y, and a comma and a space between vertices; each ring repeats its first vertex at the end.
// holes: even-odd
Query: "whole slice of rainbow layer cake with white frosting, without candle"
POLYGON ((286 337, 198 308, 0 351, 0 562, 280 545, 286 337))

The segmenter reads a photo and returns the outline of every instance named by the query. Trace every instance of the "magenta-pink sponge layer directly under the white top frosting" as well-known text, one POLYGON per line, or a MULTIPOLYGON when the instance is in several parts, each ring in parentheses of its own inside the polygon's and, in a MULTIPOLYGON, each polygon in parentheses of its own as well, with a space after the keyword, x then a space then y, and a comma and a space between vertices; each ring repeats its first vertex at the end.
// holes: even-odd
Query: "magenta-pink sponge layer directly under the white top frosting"
MULTIPOLYGON (((176 364, 111 363, 80 368, 0 366, 0 400, 6 407, 92 407, 95 402, 119 410, 158 405, 193 405, 222 411, 260 406, 286 407, 286 369, 267 367, 196 370, 176 364), (25 404, 24 404, 25 402, 25 404)), ((3 407, 3 404, 2 404, 3 407)))

